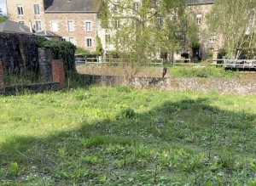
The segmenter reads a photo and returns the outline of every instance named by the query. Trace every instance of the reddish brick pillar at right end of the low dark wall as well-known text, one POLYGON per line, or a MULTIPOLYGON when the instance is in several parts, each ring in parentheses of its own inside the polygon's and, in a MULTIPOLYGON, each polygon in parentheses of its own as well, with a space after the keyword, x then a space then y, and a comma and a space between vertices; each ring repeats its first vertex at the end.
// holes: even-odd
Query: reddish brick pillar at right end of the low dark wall
POLYGON ((65 87, 64 63, 59 59, 52 59, 52 80, 60 82, 60 89, 65 87))

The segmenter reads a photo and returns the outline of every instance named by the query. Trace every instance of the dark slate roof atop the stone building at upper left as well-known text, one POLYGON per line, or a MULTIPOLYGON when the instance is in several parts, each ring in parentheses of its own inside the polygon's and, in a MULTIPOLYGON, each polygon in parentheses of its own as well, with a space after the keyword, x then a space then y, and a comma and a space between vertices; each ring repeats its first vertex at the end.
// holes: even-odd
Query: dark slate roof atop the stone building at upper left
POLYGON ((44 0, 44 12, 47 13, 97 13, 100 4, 94 0, 44 0))

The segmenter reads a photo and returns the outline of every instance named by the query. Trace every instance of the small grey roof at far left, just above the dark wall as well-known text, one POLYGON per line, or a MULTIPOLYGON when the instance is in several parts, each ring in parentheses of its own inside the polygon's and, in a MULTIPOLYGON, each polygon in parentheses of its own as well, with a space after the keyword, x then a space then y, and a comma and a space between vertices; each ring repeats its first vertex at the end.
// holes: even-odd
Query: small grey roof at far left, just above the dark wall
POLYGON ((11 20, 6 20, 3 23, 0 23, 0 31, 32 35, 32 32, 27 25, 17 23, 11 20))

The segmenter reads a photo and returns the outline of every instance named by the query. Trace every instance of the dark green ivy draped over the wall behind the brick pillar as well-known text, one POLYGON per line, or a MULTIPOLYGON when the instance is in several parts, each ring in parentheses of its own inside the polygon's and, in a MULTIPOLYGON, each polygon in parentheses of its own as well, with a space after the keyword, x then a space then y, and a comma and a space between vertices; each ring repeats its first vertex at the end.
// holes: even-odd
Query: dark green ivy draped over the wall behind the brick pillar
POLYGON ((41 36, 36 36, 36 42, 41 48, 49 47, 53 59, 63 60, 66 75, 67 72, 76 72, 74 56, 76 46, 72 42, 56 42, 41 36))

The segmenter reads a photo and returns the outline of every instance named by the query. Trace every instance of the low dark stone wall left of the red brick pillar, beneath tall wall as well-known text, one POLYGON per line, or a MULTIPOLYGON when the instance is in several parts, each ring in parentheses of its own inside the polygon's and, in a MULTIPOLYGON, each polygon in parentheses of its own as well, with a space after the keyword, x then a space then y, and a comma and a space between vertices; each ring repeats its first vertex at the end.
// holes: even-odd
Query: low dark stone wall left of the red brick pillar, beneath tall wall
POLYGON ((4 94, 13 94, 17 92, 23 92, 28 90, 32 93, 43 93, 44 91, 57 91, 60 89, 59 82, 43 82, 43 83, 32 83, 28 85, 20 85, 20 86, 11 86, 5 87, 4 94))

